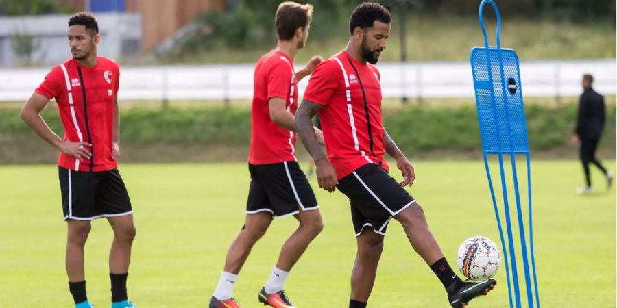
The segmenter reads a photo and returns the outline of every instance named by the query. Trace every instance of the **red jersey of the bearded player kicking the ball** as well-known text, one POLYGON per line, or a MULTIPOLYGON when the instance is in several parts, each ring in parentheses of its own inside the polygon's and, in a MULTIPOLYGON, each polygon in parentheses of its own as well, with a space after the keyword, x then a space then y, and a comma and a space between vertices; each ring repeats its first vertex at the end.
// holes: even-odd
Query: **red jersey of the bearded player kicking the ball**
POLYGON ((332 55, 313 70, 304 99, 324 105, 319 121, 337 179, 370 163, 389 170, 384 159, 380 75, 375 66, 362 64, 345 51, 332 55))

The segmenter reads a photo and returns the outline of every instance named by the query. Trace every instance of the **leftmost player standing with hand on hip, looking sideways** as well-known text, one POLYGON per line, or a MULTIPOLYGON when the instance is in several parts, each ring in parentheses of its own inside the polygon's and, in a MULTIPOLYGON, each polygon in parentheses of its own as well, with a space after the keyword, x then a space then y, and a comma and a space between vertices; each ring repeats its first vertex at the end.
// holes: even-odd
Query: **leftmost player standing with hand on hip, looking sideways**
POLYGON ((120 155, 118 64, 97 56, 101 41, 95 17, 88 12, 69 19, 73 57, 51 69, 21 110, 21 118, 60 151, 58 173, 64 220, 68 225, 66 274, 75 307, 93 307, 86 296, 84 245, 90 221, 105 217, 114 231, 109 254, 112 308, 136 308, 127 297, 126 279, 135 237, 133 210, 117 169, 120 155), (40 116, 55 99, 64 137, 40 116))

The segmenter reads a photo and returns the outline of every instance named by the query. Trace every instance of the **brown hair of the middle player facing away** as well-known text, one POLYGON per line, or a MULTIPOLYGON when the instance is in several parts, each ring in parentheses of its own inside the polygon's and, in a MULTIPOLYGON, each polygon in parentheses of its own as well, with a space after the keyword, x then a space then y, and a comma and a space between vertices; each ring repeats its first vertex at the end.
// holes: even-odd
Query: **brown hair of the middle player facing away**
POLYGON ((313 20, 313 5, 286 1, 276 10, 276 35, 279 40, 291 40, 295 30, 306 26, 313 20))

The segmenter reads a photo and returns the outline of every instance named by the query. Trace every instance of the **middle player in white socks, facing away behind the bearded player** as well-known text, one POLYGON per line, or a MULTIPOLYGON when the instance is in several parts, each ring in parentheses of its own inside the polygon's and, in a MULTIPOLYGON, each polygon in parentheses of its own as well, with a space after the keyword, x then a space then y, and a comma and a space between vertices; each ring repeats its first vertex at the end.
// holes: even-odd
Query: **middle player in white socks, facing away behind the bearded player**
MULTIPOLYGON (((298 106, 298 81, 309 75, 321 57, 313 57, 298 72, 293 57, 306 44, 313 7, 284 2, 276 11, 276 49, 261 57, 255 67, 252 133, 248 157, 251 184, 245 225, 232 242, 210 308, 237 308, 232 291, 251 248, 274 217, 294 216, 300 226, 283 244, 269 279, 258 294, 259 302, 291 308, 283 291, 287 274, 309 243, 322 231, 322 215, 306 176, 295 159, 293 115, 298 106)), ((319 140, 322 133, 313 128, 319 140)))

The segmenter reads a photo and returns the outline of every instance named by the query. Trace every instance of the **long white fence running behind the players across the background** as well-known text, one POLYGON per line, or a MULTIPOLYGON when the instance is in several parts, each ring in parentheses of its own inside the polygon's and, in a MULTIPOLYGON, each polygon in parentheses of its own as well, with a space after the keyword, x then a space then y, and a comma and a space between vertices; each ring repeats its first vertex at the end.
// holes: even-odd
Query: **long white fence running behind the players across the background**
MULTIPOLYGON (((384 97, 474 97, 468 62, 385 62, 377 66, 384 97)), ((614 95, 616 68, 615 59, 522 62, 522 91, 527 97, 576 96, 581 93, 583 73, 590 73, 598 92, 614 95)), ((123 66, 119 99, 251 99, 253 69, 254 64, 123 66)), ((24 101, 48 71, 0 69, 0 101, 24 101)), ((300 81, 300 95, 308 80, 300 81)))

